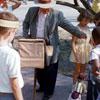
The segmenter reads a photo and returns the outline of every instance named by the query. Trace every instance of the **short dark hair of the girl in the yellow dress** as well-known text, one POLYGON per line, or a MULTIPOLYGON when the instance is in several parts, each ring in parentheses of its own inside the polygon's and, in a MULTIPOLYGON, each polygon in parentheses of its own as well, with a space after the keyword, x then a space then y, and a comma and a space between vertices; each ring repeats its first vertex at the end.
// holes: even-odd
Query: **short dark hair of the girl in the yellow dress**
POLYGON ((77 20, 80 22, 83 20, 83 18, 90 19, 90 22, 93 19, 92 15, 90 14, 90 12, 88 10, 84 10, 84 11, 80 12, 80 15, 78 16, 77 20))

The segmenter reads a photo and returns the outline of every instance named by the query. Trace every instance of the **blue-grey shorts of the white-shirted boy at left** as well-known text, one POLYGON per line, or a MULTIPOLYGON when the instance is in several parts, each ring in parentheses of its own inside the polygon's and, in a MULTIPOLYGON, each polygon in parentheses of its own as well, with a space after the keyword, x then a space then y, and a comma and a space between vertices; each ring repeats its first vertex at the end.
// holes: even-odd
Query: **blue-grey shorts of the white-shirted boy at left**
POLYGON ((0 100, 16 100, 13 93, 0 93, 0 100))

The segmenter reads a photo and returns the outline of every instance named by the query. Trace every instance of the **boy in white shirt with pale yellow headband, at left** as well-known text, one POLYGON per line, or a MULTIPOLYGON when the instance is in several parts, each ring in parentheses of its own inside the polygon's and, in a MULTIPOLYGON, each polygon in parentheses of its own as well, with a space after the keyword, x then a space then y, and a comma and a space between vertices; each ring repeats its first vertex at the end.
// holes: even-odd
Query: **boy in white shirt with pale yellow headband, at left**
POLYGON ((0 13, 0 100, 23 100, 20 56, 8 46, 13 40, 18 19, 9 12, 0 13))

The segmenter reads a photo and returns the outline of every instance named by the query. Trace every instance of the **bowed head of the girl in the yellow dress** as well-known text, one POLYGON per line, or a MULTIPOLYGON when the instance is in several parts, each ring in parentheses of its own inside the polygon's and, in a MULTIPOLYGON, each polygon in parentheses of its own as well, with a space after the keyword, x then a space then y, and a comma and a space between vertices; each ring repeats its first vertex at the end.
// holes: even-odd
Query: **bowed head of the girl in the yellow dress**
POLYGON ((84 10, 80 12, 80 15, 78 16, 77 20, 80 22, 80 25, 85 27, 88 23, 92 21, 92 16, 88 10, 84 10))

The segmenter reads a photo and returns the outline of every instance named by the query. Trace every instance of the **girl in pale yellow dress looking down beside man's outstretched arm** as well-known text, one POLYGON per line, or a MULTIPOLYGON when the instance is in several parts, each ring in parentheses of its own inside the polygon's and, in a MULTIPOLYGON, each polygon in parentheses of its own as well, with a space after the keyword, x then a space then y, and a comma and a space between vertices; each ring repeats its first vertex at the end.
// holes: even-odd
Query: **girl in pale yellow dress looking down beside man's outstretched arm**
POLYGON ((77 76, 80 72, 84 73, 85 66, 88 61, 88 56, 92 49, 91 42, 91 32, 87 24, 91 22, 92 17, 88 11, 80 13, 77 20, 80 22, 77 27, 80 31, 86 33, 87 39, 79 39, 72 36, 72 53, 70 55, 70 61, 75 62, 75 72, 73 76, 73 84, 75 84, 77 76))

